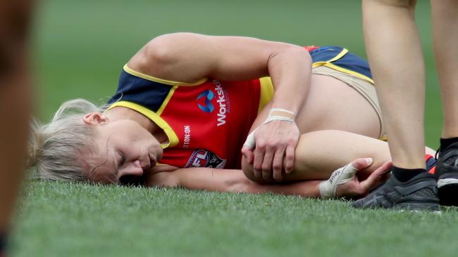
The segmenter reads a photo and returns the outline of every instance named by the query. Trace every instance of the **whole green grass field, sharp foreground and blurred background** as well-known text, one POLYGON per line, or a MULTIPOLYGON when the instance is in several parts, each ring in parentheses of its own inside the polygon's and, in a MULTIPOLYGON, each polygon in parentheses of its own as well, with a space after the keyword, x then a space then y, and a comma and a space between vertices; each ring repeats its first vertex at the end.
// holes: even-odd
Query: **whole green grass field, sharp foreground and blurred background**
MULTIPOLYGON (((70 98, 99 103, 128 59, 169 32, 341 45, 365 56, 360 1, 39 1, 33 35, 37 116, 70 98)), ((427 1, 417 22, 427 68, 426 142, 440 95, 427 1)), ((278 195, 27 181, 11 256, 456 256, 458 215, 359 211, 278 195)))

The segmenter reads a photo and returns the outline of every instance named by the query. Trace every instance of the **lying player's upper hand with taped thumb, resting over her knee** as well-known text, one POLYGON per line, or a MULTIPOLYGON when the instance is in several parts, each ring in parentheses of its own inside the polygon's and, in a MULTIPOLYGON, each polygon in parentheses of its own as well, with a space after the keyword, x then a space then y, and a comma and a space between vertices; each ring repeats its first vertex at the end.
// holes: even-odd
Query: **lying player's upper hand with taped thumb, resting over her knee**
POLYGON ((299 128, 295 122, 275 120, 262 124, 253 134, 251 143, 242 147, 242 154, 253 164, 256 178, 281 180, 282 171, 294 169, 295 149, 299 141, 299 128))

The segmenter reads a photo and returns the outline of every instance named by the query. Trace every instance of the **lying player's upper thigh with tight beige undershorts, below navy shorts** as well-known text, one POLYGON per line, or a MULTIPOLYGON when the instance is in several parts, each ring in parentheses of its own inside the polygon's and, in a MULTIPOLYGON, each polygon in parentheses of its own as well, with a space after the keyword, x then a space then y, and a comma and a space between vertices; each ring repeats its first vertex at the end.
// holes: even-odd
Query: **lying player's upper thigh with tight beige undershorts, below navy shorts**
MULTIPOLYGON (((371 138, 383 135, 380 108, 372 84, 328 67, 314 68, 312 72, 315 70, 320 73, 312 74, 307 99, 296 118, 301 133, 340 130, 371 138)), ((251 131, 266 120, 270 107, 268 103, 259 113, 251 131)))

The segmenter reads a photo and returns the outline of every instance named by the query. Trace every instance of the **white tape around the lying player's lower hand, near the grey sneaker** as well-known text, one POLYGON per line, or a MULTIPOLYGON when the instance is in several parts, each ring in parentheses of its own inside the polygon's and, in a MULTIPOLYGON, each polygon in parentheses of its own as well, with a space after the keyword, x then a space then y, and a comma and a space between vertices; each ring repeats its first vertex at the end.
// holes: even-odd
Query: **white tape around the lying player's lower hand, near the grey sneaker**
POLYGON ((349 180, 354 178, 354 174, 357 173, 357 169, 350 163, 344 167, 335 170, 328 180, 320 183, 320 195, 323 199, 335 198, 337 188, 339 185, 347 183, 349 180))

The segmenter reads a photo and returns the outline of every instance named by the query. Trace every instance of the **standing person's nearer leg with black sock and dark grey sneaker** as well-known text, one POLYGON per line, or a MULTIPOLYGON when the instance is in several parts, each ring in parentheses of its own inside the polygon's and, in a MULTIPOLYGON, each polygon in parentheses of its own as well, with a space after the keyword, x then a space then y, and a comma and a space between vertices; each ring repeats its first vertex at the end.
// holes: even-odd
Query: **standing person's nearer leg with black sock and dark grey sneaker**
POLYGON ((415 5, 415 0, 363 0, 364 40, 393 176, 379 190, 354 202, 355 207, 439 209, 435 178, 426 173, 424 162, 425 67, 415 5))

